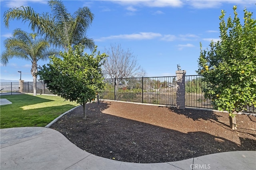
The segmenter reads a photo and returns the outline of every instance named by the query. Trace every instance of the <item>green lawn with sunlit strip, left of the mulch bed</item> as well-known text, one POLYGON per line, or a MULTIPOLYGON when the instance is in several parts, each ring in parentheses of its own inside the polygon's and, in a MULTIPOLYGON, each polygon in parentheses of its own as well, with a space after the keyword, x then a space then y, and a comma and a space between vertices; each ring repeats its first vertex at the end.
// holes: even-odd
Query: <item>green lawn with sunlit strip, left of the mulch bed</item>
POLYGON ((12 104, 0 106, 0 128, 45 127, 56 117, 78 106, 51 95, 6 95, 12 104))

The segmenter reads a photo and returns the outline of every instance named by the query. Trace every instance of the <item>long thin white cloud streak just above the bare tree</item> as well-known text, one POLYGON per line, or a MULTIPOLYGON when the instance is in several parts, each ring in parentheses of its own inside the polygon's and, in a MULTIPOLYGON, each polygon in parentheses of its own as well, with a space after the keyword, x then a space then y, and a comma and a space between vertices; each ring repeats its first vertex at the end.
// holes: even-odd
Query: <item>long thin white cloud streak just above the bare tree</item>
POLYGON ((157 37, 161 37, 162 35, 154 32, 140 32, 137 34, 120 34, 118 36, 108 36, 102 37, 100 39, 96 39, 95 41, 104 41, 104 40, 112 40, 112 39, 127 39, 127 40, 150 40, 157 37))

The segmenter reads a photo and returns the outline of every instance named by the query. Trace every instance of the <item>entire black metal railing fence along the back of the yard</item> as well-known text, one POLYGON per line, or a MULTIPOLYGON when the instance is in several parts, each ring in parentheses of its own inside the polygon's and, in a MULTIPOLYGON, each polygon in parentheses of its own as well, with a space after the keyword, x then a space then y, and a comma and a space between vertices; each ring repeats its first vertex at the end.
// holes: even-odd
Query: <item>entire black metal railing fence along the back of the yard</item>
MULTIPOLYGON (((101 99, 131 101, 161 105, 176 105, 176 76, 105 79, 106 88, 101 99)), ((42 82, 36 84, 37 94, 52 94, 42 82)), ((213 109, 210 99, 204 98, 206 84, 200 75, 185 76, 185 106, 213 109)), ((33 82, 0 83, 0 95, 33 93, 33 82), (21 89, 22 88, 22 89, 21 89)), ((246 106, 247 113, 256 113, 255 107, 246 106)))

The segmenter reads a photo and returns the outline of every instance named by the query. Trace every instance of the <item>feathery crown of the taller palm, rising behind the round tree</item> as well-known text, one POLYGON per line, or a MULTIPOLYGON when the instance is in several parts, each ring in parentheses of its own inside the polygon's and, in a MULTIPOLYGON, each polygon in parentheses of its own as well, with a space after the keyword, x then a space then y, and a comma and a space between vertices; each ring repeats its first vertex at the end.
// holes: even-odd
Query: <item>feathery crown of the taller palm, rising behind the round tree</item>
POLYGON ((48 4, 52 9, 52 15, 38 14, 29 6, 10 8, 4 12, 5 26, 9 27, 9 20, 22 19, 22 22, 29 22, 32 31, 36 30, 41 36, 44 35, 56 47, 67 50, 68 45, 81 43, 86 48, 94 49, 94 41, 86 36, 94 17, 88 7, 78 8, 71 15, 60 0, 50 0, 48 4))

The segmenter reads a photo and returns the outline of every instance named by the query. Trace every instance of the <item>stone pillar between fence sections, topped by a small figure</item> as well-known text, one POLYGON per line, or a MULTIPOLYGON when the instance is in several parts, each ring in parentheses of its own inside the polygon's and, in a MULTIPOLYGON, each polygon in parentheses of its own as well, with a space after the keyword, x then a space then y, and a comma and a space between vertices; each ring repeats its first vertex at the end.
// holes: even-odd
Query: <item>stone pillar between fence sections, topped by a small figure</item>
POLYGON ((176 108, 185 109, 185 75, 186 70, 176 71, 177 91, 176 108))

